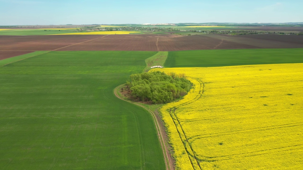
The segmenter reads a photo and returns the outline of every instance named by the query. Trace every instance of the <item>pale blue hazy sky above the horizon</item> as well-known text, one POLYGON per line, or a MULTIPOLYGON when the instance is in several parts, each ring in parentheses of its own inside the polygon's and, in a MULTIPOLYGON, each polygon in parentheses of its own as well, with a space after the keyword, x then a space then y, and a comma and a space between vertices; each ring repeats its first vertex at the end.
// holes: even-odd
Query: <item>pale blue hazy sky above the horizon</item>
POLYGON ((302 6, 302 0, 0 0, 0 25, 303 22, 302 6))

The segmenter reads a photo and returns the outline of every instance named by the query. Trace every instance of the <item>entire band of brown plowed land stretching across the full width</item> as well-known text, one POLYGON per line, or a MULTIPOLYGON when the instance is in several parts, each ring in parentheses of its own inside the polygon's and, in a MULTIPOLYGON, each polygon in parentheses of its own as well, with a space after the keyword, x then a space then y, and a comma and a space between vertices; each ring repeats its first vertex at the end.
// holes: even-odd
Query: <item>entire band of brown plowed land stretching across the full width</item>
POLYGON ((302 48, 300 36, 205 34, 0 36, 0 59, 31 51, 181 51, 243 48, 302 48))

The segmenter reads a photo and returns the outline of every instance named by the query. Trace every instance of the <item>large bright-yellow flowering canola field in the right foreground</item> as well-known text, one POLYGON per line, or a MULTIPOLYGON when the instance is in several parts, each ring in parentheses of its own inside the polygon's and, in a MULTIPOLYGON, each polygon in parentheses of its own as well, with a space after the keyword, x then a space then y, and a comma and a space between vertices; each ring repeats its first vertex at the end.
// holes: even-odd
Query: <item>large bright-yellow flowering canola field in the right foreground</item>
POLYGON ((161 71, 185 73, 194 85, 160 110, 176 169, 303 167, 303 64, 161 71))

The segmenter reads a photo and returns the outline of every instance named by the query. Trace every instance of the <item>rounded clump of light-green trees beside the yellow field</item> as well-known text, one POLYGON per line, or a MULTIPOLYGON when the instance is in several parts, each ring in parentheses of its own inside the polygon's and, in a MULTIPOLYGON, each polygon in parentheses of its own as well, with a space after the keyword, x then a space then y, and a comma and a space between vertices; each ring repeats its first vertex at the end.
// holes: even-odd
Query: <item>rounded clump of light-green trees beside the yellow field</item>
POLYGON ((161 71, 132 74, 126 84, 134 98, 152 103, 171 102, 184 96, 191 88, 185 74, 172 72, 167 75, 161 71))

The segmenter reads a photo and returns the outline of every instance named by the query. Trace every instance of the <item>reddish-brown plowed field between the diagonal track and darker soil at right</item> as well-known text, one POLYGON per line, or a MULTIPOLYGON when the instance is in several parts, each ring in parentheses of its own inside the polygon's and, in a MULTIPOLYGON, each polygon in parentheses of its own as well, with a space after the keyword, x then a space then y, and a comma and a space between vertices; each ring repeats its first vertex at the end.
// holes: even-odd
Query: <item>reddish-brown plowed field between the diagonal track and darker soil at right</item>
POLYGON ((62 48, 74 50, 129 50, 129 51, 179 51, 203 49, 258 48, 247 44, 222 41, 216 38, 175 34, 109 35, 104 38, 62 48))

